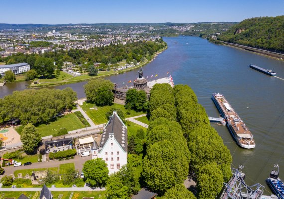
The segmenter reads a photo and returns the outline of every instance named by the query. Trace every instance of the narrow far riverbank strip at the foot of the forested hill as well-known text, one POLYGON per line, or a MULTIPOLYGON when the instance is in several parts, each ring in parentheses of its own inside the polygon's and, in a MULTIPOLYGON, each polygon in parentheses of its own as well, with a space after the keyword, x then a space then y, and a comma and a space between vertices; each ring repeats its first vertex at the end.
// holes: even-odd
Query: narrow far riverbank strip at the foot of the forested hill
POLYGON ((270 58, 274 58, 274 59, 277 59, 277 60, 284 61, 284 54, 274 53, 274 52, 267 51, 267 50, 262 50, 262 49, 258 49, 258 48, 252 48, 252 47, 239 45, 239 44, 228 43, 228 42, 224 42, 224 41, 219 41, 219 42, 222 45, 226 45, 226 46, 230 46, 230 47, 233 47, 233 48, 246 50, 246 51, 253 52, 253 53, 256 53, 256 54, 259 54, 259 55, 263 55, 263 56, 267 56, 267 57, 270 57, 270 58))

